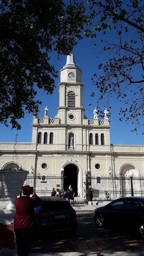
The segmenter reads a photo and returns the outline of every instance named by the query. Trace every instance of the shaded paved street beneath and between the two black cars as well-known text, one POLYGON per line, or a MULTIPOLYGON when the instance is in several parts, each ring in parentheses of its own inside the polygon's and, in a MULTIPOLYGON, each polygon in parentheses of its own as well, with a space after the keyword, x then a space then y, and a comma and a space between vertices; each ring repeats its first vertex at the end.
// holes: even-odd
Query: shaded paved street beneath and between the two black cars
POLYGON ((50 237, 33 240, 30 255, 49 252, 56 253, 55 255, 60 255, 60 252, 106 252, 118 255, 121 251, 125 255, 134 252, 139 256, 144 255, 144 240, 136 234, 125 233, 123 230, 97 229, 91 211, 77 212, 77 220, 78 229, 74 238, 52 233, 50 237))

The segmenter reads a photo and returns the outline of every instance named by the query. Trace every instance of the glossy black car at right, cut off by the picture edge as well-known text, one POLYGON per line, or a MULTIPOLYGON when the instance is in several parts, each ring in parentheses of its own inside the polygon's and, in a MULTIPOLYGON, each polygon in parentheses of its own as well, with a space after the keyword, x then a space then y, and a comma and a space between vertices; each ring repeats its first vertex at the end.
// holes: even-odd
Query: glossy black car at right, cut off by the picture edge
POLYGON ((144 238, 144 197, 123 197, 94 210, 96 226, 129 226, 144 238))

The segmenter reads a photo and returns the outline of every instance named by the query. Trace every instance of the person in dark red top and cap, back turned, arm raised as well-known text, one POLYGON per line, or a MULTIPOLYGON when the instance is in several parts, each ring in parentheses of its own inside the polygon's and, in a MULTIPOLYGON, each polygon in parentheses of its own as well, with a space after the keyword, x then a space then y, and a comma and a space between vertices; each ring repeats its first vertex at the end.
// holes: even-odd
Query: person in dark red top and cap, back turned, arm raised
POLYGON ((15 199, 14 231, 18 256, 28 256, 35 222, 34 208, 41 205, 41 200, 34 190, 33 197, 30 198, 31 187, 29 185, 23 186, 22 192, 22 197, 15 199))

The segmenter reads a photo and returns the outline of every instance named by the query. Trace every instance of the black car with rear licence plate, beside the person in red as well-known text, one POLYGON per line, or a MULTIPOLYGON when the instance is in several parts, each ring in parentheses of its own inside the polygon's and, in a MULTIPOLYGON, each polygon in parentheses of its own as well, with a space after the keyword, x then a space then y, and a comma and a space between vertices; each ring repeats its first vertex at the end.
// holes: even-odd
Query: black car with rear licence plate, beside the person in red
POLYGON ((53 231, 77 230, 76 211, 70 203, 60 197, 40 197, 41 205, 35 209, 35 234, 53 231))

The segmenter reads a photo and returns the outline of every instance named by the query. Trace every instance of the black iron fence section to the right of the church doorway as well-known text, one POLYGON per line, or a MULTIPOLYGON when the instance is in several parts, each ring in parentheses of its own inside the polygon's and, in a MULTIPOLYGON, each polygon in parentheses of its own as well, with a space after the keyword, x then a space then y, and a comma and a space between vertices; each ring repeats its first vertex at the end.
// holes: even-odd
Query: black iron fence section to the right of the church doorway
MULTIPOLYGON (((134 196, 144 196, 144 177, 133 177, 132 187, 134 196)), ((89 194, 93 196, 89 201, 115 200, 120 197, 131 196, 131 179, 127 176, 101 176, 90 177, 89 194)))

